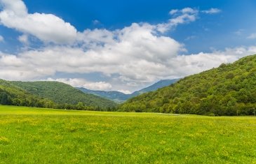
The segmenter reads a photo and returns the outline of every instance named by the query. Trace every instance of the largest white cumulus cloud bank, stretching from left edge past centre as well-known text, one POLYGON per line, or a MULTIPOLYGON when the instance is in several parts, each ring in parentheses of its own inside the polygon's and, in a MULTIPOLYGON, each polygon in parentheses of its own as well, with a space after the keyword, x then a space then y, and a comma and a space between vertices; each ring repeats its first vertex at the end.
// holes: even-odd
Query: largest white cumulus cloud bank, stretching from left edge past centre
MULTIPOLYGON (((87 36, 94 35, 92 33, 95 31, 85 33, 82 37, 85 46, 91 40, 87 36)), ((31 78, 31 75, 34 78, 54 75, 56 72, 100 72, 105 75, 118 74, 126 77, 126 80, 147 82, 155 80, 155 74, 162 75, 169 60, 184 49, 173 38, 154 35, 154 27, 149 24, 132 24, 107 33, 113 37, 100 45, 89 46, 90 49, 86 50, 83 46, 56 45, 18 55, 3 54, 0 67, 3 73, 6 68, 18 70, 21 79, 26 76, 31 78), (13 68, 15 63, 20 64, 19 68, 13 68)))

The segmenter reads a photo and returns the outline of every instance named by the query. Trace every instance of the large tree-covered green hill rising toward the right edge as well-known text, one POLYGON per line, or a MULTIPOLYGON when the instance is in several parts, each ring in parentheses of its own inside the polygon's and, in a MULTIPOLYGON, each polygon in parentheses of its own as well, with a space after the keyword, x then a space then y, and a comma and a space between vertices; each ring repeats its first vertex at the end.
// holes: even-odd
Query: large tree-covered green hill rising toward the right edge
POLYGON ((256 109, 256 54, 131 98, 121 111, 250 115, 256 109))

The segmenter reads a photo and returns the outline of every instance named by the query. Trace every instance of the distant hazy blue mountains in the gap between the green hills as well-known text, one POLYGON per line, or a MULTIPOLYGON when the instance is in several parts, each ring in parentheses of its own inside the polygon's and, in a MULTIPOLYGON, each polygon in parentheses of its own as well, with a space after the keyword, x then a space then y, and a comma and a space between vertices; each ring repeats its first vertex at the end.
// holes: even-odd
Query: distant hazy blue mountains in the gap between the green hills
POLYGON ((86 93, 86 94, 94 94, 96 96, 101 96, 101 97, 107 98, 109 100, 114 100, 114 102, 116 102, 116 103, 122 103, 122 102, 128 100, 129 98, 133 98, 135 96, 144 94, 149 91, 156 91, 156 89, 166 87, 170 84, 173 84, 174 82, 177 82, 177 79, 160 80, 159 82, 156 82, 155 84, 152 84, 151 86, 149 86, 147 88, 141 89, 140 91, 133 92, 133 94, 123 94, 122 92, 119 92, 119 91, 93 91, 93 90, 86 89, 83 87, 77 88, 77 89, 83 91, 83 93, 86 93))

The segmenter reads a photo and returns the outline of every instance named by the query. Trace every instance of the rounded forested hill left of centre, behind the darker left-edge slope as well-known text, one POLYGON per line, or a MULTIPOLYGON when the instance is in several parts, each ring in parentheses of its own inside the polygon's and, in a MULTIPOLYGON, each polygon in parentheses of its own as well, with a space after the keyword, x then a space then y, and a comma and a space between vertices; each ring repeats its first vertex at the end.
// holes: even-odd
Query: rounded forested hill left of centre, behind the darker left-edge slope
POLYGON ((11 84, 36 96, 53 100, 58 104, 77 105, 81 102, 92 107, 114 107, 116 105, 111 100, 92 94, 84 94, 82 91, 62 82, 11 82, 11 84))

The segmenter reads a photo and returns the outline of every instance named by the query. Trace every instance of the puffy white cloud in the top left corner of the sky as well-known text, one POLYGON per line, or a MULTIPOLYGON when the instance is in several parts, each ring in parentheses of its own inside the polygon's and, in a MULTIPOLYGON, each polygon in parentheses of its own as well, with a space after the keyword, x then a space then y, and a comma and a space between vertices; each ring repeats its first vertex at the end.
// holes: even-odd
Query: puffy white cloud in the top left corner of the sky
POLYGON ((0 22, 4 26, 29 33, 43 42, 72 43, 76 39, 76 29, 52 14, 27 13, 21 0, 0 0, 3 10, 0 22))

